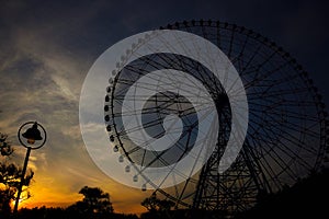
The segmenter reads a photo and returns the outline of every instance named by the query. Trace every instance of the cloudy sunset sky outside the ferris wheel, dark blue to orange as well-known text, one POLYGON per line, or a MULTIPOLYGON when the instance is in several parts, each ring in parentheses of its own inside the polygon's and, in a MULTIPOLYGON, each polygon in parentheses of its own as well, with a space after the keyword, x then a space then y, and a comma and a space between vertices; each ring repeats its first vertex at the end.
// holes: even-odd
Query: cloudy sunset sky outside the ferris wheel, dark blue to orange
POLYGON ((37 120, 46 146, 32 151, 32 197, 22 206, 68 206, 79 189, 110 193, 117 212, 140 212, 150 193, 102 173, 90 159, 79 128, 79 97, 88 70, 116 42, 183 20, 220 20, 276 42, 309 72, 329 105, 329 4, 326 1, 18 1, 0 0, 0 131, 22 165, 18 128, 37 120), (160 3, 161 2, 161 3, 160 3), (166 3, 164 3, 166 2, 166 3))

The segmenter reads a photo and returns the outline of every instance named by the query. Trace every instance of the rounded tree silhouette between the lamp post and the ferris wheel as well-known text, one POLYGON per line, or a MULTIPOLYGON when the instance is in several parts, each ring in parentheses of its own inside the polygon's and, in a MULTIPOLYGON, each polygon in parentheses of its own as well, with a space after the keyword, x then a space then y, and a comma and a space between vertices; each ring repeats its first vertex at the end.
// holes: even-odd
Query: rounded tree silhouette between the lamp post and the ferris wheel
POLYGON ((100 218, 113 214, 112 203, 109 193, 104 193, 99 187, 84 186, 79 194, 83 199, 69 207, 84 218, 100 218))

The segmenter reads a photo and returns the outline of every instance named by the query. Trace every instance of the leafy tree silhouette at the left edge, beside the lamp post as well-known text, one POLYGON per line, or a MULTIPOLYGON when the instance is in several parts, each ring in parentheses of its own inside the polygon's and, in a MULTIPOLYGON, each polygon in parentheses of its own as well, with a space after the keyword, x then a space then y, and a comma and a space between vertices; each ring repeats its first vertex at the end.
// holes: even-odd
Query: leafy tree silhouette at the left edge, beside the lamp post
MULTIPOLYGON (((20 185, 23 170, 13 163, 8 163, 8 158, 13 153, 8 136, 0 132, 0 216, 8 217, 11 212, 11 201, 15 199, 15 194, 20 185)), ((23 186, 29 186, 34 173, 26 174, 23 186)), ((29 189, 25 188, 26 196, 30 198, 29 189)), ((0 217, 1 218, 1 217, 0 217)))

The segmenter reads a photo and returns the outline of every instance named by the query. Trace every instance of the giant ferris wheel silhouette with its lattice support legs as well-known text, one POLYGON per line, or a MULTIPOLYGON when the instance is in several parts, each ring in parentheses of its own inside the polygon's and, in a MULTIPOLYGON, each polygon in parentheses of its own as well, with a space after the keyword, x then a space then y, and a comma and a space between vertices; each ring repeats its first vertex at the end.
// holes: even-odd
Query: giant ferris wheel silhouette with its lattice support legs
POLYGON ((136 173, 133 182, 143 181, 143 189, 155 188, 179 208, 232 215, 321 168, 328 150, 325 104, 288 53, 251 30, 218 21, 160 30, 183 34, 174 36, 175 45, 162 32, 129 45, 106 89, 112 150, 118 162, 131 163, 125 172, 136 173), (186 50, 177 53, 178 47, 186 50), (140 53, 144 48, 148 53, 140 53), (218 68, 225 73, 213 72, 218 68), (238 78, 230 78, 234 73, 238 78), (237 125, 240 114, 248 126, 237 125), (218 171, 232 138, 231 145, 241 147, 218 171))

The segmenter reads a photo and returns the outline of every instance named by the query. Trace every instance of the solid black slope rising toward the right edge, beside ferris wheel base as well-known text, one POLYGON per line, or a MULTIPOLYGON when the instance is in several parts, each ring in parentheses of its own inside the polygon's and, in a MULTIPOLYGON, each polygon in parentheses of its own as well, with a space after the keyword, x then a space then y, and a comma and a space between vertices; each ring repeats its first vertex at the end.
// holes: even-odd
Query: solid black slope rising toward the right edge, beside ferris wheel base
POLYGON ((328 215, 329 170, 299 180, 294 186, 260 197, 250 210, 237 219, 326 218, 328 215))

